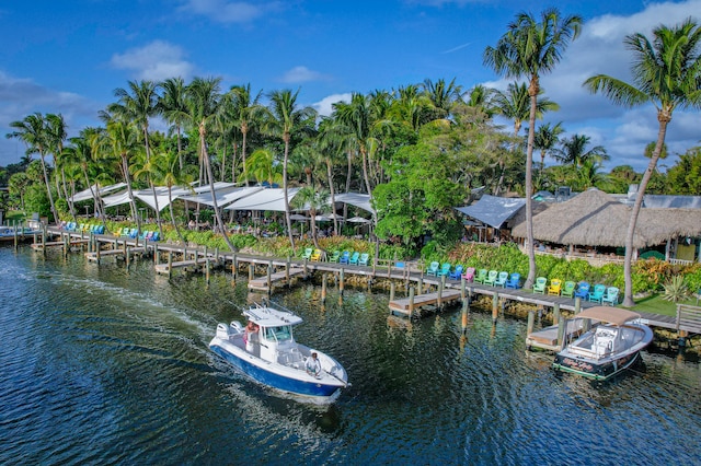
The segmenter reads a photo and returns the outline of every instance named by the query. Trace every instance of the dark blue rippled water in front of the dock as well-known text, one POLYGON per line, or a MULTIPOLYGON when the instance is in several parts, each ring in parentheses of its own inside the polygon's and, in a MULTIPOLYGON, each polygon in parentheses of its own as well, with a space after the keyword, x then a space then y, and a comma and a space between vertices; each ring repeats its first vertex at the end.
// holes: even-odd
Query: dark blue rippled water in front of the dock
POLYGON ((411 326, 387 293, 302 286, 275 301, 353 385, 315 406, 214 356, 245 283, 149 261, 0 248, 0 464, 699 464, 699 364, 645 352, 608 383, 525 351, 525 322, 459 312, 411 326))

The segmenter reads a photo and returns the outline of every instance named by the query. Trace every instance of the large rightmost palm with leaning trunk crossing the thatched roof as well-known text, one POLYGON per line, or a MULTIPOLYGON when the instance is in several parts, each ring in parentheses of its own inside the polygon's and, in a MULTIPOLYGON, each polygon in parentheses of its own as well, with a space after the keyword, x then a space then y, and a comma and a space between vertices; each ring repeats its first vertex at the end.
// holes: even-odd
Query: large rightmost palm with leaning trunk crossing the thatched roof
POLYGON ((652 40, 637 33, 625 36, 623 43, 633 53, 633 83, 597 74, 587 79, 584 85, 593 93, 602 93, 618 105, 634 107, 652 103, 657 108, 657 142, 640 183, 625 236, 623 305, 632 306, 635 303, 632 278, 633 237, 643 195, 665 145, 673 112, 677 107, 701 105, 701 27, 696 21, 687 19, 673 27, 656 27, 652 40))

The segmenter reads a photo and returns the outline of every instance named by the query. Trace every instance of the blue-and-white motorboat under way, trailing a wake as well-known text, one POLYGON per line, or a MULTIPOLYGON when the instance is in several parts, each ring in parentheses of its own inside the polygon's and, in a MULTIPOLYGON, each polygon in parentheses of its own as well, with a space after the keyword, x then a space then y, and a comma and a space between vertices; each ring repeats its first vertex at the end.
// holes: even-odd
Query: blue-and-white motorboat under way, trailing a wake
POLYGON ((243 315, 252 325, 244 328, 235 321, 217 325, 209 348, 245 375, 283 392, 312 397, 330 397, 348 385, 346 371, 335 359, 295 341, 292 327, 302 323, 301 317, 261 305, 243 315))

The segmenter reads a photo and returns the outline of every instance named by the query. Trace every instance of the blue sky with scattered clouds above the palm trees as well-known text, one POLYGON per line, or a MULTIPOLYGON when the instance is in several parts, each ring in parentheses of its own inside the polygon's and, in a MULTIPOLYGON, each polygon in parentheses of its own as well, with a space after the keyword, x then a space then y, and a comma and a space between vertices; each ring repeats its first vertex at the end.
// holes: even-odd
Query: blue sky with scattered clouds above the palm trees
MULTIPOLYGON (((590 137, 611 160, 605 170, 647 165, 644 148, 657 137, 654 106, 627 109, 582 88, 605 73, 631 82, 628 34, 686 18, 701 21, 701 0, 33 0, 0 2, 0 166, 24 155, 7 139, 11 121, 60 113, 69 136, 100 124, 97 112, 131 80, 220 77, 222 91, 299 90, 298 102, 327 115, 352 92, 391 91, 426 79, 466 90, 505 90, 483 65, 520 12, 555 4, 584 20, 581 36, 551 74, 545 95, 561 109, 542 123, 562 121, 565 136, 590 137)), ((677 109, 669 125, 670 155, 701 143, 701 114, 677 109)), ((502 121, 505 130, 512 126, 502 121)), ((158 123, 154 123, 158 128, 158 123)), ((163 129, 163 128, 161 128, 163 129)), ((538 159, 538 158, 537 158, 538 159)))

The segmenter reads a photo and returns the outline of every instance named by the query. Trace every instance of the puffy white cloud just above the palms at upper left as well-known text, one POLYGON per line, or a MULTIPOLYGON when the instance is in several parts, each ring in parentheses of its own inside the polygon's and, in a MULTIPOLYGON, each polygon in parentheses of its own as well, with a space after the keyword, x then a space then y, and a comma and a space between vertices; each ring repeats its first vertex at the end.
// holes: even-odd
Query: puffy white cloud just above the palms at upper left
POLYGON ((183 56, 179 46, 153 40, 143 47, 115 54, 110 63, 117 69, 135 71, 136 78, 140 80, 162 81, 175 77, 187 80, 192 77, 194 67, 183 56))

